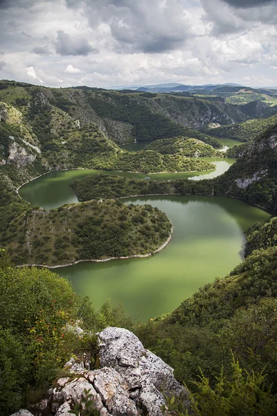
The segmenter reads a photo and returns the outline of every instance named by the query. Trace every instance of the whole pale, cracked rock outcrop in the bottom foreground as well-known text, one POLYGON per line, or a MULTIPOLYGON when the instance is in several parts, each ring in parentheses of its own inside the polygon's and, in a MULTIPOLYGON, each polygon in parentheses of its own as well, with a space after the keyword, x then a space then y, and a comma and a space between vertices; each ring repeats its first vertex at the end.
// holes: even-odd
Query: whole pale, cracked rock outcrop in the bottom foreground
POLYGON ((98 333, 98 344, 98 370, 86 370, 86 358, 80 363, 71 360, 71 376, 57 380, 36 415, 70 416, 75 405, 91 401, 100 416, 160 416, 171 396, 189 406, 188 391, 175 380, 172 368, 145 349, 134 333, 108 327, 98 333))

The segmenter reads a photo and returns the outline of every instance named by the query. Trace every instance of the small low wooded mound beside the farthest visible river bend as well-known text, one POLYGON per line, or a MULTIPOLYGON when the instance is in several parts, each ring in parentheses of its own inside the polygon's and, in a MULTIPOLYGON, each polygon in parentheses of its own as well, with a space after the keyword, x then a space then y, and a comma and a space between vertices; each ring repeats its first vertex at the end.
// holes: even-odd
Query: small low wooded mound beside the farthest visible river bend
POLYGON ((145 149, 156 150, 163 155, 182 155, 186 157, 222 157, 222 152, 216 151, 213 146, 205 144, 199 139, 189 137, 171 137, 152 141, 145 149))

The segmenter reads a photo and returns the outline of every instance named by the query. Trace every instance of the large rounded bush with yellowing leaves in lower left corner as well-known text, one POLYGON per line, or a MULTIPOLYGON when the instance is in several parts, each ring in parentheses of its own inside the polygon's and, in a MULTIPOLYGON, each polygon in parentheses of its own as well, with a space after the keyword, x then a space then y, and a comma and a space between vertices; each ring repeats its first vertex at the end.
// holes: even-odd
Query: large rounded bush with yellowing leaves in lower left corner
POLYGON ((27 392, 47 388, 72 354, 63 327, 77 316, 78 298, 48 270, 0 268, 1 415, 18 410, 27 392))

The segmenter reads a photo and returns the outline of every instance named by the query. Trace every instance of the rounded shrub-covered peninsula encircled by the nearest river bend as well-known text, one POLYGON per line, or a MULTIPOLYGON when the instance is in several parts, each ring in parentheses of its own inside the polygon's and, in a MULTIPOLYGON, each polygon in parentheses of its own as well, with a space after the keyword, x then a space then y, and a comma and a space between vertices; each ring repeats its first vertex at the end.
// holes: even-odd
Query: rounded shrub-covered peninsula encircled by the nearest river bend
POLYGON ((170 229, 166 214, 150 205, 100 200, 51 211, 30 208, 11 221, 1 243, 17 264, 57 266, 149 254, 170 229))

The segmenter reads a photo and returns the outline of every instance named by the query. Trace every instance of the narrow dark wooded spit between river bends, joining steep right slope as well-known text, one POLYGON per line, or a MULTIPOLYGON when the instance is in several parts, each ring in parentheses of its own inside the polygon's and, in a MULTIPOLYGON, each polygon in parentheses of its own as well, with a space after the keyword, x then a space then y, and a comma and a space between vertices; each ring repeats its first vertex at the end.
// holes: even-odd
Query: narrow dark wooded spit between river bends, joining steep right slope
MULTIPOLYGON (((247 150, 242 151, 242 157, 224 175, 213 180, 146 181, 100 175, 75 180, 73 188, 80 200, 151 193, 204 193, 235 196, 277 212, 276 131, 277 127, 267 130, 247 150)), ((235 147, 240 149, 241 146, 235 147)), ((238 155, 237 151, 235 154, 238 155)))

